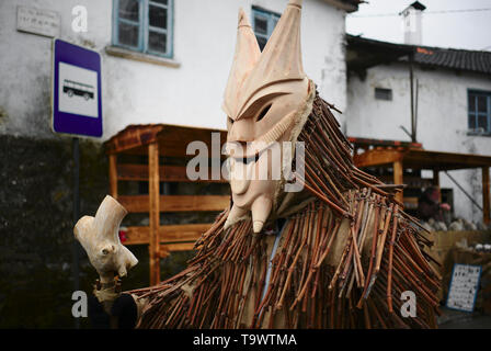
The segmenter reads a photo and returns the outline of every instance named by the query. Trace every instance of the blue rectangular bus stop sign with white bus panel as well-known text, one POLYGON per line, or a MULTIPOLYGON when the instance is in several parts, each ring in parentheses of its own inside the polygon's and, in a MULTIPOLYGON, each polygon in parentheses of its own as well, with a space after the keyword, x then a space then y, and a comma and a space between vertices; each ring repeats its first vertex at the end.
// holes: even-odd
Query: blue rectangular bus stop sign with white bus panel
POLYGON ((101 137, 101 56, 55 39, 53 57, 53 131, 101 137))

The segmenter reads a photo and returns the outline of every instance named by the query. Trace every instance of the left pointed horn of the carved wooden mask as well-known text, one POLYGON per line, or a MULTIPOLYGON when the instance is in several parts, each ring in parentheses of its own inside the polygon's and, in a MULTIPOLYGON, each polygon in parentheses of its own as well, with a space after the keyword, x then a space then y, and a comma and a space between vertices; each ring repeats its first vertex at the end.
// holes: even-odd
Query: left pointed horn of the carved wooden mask
POLYGON ((246 12, 239 10, 239 24, 237 29, 236 54, 233 64, 228 78, 227 88, 224 97, 224 111, 229 117, 237 117, 238 92, 240 91, 247 76, 254 68, 261 56, 258 39, 252 31, 246 12))

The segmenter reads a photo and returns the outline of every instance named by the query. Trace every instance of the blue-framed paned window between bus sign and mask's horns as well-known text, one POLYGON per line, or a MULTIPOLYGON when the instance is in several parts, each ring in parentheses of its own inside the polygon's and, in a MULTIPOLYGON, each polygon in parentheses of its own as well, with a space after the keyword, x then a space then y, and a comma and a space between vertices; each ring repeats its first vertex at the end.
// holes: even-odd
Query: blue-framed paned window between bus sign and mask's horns
POLYGON ((173 0, 114 0, 113 45, 172 57, 173 0))

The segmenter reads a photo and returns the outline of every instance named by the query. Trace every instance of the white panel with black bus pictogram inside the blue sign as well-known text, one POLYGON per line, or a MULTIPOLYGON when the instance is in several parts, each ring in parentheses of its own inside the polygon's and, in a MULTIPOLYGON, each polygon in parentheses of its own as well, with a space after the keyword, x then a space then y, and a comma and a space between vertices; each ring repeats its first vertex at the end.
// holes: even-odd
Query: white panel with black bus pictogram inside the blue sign
POLYGON ((99 117, 98 72, 59 63, 58 110, 88 117, 99 117))

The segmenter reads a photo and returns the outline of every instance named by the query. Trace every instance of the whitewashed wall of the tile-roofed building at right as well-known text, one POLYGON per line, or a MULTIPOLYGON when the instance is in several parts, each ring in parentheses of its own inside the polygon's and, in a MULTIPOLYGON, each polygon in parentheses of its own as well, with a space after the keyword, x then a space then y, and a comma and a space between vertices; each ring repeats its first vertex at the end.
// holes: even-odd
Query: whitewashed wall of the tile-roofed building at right
MULTIPOLYGON (((488 76, 453 70, 414 70, 419 80, 418 141, 427 150, 491 156, 491 137, 467 135, 467 89, 491 91, 488 76)), ((347 81, 347 135, 410 140, 399 127, 411 131, 409 69, 382 65, 368 69, 366 80, 351 76, 347 81), (375 99, 375 88, 392 89, 392 101, 375 99)), ((481 170, 450 174, 482 204, 481 170)), ((454 189, 456 215, 482 220, 482 213, 441 172, 442 188, 454 189)))

